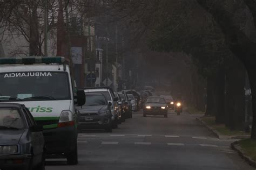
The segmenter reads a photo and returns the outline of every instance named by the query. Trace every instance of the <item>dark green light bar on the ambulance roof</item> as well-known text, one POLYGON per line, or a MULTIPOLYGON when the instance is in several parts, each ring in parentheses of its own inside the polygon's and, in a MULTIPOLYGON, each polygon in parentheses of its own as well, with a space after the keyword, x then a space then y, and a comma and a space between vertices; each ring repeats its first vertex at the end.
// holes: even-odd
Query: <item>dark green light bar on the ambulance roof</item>
POLYGON ((0 65, 32 65, 34 63, 51 63, 63 64, 65 58, 63 56, 25 56, 16 58, 0 58, 0 65))

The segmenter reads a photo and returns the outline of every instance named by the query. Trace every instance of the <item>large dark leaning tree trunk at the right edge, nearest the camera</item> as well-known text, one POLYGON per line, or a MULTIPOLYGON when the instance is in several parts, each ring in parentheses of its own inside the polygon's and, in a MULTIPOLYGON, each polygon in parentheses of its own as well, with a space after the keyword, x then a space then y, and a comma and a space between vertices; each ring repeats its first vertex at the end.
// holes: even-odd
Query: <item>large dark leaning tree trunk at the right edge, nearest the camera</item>
MULTIPOLYGON (((227 46, 231 49, 233 54, 244 63, 248 72, 252 90, 252 106, 253 106, 253 124, 251 138, 256 139, 256 79, 255 79, 255 63, 256 63, 256 49, 255 42, 246 36, 233 22, 233 13, 228 12, 223 5, 223 1, 212 0, 197 0, 197 2, 215 19, 219 24, 221 30, 225 34, 227 46)), ((244 0, 245 4, 250 9, 254 24, 255 23, 255 1, 244 0)))

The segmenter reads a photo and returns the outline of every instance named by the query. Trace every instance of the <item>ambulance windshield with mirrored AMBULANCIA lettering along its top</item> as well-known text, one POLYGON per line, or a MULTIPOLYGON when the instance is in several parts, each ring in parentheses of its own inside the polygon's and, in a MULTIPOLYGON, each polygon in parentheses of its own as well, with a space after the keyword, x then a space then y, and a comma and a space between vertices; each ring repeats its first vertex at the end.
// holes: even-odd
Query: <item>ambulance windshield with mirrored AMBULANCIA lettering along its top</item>
POLYGON ((0 102, 70 100, 65 72, 0 73, 0 102))

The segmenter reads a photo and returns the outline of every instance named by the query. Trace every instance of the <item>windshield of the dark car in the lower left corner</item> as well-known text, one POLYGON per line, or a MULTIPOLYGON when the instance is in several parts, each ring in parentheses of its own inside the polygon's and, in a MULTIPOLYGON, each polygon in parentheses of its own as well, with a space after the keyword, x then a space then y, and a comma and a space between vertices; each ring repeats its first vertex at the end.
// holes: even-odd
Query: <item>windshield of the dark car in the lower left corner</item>
POLYGON ((23 119, 17 109, 0 108, 0 130, 23 129, 23 119))

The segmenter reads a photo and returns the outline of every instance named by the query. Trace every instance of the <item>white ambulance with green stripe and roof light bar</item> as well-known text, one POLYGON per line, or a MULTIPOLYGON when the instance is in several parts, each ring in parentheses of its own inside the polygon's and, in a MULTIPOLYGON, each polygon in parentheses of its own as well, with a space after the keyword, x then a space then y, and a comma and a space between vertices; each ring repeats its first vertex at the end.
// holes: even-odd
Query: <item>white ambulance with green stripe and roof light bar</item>
POLYGON ((83 90, 73 88, 63 57, 0 58, 0 102, 25 104, 44 126, 46 153, 62 154, 76 165, 75 104, 84 105, 83 90))

